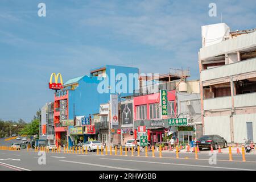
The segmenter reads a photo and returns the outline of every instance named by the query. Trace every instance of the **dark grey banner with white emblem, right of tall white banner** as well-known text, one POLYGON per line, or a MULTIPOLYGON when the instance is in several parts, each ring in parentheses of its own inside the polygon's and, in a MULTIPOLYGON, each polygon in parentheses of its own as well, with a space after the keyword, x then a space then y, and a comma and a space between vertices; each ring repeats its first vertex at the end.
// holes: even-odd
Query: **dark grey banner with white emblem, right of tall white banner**
POLYGON ((133 126, 133 103, 122 104, 121 113, 122 113, 122 127, 133 126))

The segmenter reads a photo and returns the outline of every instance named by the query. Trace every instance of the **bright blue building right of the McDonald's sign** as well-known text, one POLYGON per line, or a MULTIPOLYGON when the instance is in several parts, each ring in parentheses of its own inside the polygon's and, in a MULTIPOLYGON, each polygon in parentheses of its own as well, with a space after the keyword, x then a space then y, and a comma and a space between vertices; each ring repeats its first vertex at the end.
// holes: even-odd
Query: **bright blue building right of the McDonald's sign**
MULTIPOLYGON (((77 116, 89 117, 99 112, 100 104, 108 103, 110 94, 131 96, 138 88, 139 69, 104 65, 90 70, 90 75, 72 78, 64 83, 68 91, 68 119, 77 116)), ((88 136, 84 135, 84 142, 88 136)), ((72 146, 69 137, 69 146, 72 146)))

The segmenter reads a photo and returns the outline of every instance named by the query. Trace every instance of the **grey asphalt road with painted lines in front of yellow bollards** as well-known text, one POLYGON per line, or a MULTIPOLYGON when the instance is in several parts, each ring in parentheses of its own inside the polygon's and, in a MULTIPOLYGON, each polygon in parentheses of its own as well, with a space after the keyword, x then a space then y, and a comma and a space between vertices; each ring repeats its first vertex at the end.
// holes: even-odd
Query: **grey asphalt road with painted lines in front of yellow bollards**
MULTIPOLYGON (((233 155, 233 162, 229 161, 228 154, 217 154, 216 164, 209 164, 210 156, 208 154, 199 154, 199 159, 195 159, 195 154, 176 154, 164 153, 159 158, 159 152, 155 152, 155 158, 152 158, 152 152, 148 152, 148 157, 141 152, 141 156, 119 155, 97 155, 97 152, 88 152, 88 154, 64 154, 45 153, 46 164, 42 163, 39 152, 35 151, 7 151, 0 150, 0 170, 85 170, 85 171, 174 171, 174 170, 256 170, 256 155, 246 155, 246 162, 242 162, 242 155, 233 155), (38 163, 39 161, 39 163, 38 163)), ((137 155, 137 152, 134 152, 137 155)))

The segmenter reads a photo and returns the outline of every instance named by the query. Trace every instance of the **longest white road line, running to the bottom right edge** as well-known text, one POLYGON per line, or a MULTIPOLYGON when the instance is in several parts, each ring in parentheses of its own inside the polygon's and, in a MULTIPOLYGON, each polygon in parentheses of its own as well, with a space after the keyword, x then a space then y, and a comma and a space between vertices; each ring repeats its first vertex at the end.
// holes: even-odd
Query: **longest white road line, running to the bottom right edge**
POLYGON ((140 162, 140 163, 153 163, 153 164, 167 164, 167 165, 188 166, 188 167, 203 167, 203 168, 231 169, 231 170, 241 170, 241 171, 255 171, 255 169, 229 168, 229 167, 216 167, 216 166, 201 166, 201 165, 177 164, 177 163, 162 163, 162 162, 150 162, 150 161, 144 161, 144 160, 126 160, 126 159, 109 159, 109 158, 100 158, 100 159, 120 160, 120 161, 140 162))

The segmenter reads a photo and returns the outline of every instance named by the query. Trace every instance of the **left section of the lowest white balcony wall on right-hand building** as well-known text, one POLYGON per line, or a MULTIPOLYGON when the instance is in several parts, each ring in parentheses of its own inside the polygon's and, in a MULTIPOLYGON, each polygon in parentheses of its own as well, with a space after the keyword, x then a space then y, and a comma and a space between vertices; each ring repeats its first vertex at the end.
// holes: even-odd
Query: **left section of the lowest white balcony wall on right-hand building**
POLYGON ((231 97, 208 98, 204 100, 204 110, 232 108, 231 97))

